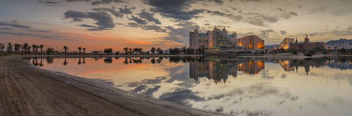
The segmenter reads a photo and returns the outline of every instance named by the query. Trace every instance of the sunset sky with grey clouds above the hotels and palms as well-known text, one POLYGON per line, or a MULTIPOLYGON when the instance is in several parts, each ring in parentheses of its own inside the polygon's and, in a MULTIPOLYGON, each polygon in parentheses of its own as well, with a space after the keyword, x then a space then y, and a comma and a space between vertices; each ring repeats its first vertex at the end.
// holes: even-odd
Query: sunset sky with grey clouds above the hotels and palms
POLYGON ((71 51, 189 45, 215 26, 265 44, 352 39, 352 0, 1 0, 0 43, 71 51))

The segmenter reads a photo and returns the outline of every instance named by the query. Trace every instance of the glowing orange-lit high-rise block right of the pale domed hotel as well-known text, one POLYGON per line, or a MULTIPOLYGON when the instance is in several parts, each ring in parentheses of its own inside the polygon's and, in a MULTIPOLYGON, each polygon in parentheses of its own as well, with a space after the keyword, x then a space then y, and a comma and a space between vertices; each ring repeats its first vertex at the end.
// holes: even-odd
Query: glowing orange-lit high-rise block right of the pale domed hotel
POLYGON ((264 47, 264 40, 261 40, 257 35, 247 35, 237 39, 239 45, 244 48, 257 49, 264 47))

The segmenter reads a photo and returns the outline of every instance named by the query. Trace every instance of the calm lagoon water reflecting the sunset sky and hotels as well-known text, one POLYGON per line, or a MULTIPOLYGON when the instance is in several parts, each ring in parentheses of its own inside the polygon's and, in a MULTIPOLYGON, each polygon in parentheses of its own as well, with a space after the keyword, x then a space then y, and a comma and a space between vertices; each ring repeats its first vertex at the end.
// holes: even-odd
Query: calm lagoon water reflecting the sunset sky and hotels
POLYGON ((352 58, 25 58, 38 67, 239 116, 351 116, 352 58))

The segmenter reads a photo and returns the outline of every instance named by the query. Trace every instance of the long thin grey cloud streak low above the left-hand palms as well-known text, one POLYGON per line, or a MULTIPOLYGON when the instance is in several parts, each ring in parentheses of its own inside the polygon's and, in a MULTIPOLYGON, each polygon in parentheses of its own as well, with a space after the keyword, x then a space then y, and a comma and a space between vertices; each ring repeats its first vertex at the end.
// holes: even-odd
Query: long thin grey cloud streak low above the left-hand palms
POLYGON ((37 34, 29 34, 29 33, 14 33, 14 32, 0 32, 0 34, 5 34, 5 35, 18 35, 18 36, 32 36, 32 37, 39 37, 39 38, 44 38, 44 39, 53 39, 53 40, 70 40, 70 41, 78 41, 75 39, 67 39, 67 36, 56 36, 56 35, 37 35, 37 34))

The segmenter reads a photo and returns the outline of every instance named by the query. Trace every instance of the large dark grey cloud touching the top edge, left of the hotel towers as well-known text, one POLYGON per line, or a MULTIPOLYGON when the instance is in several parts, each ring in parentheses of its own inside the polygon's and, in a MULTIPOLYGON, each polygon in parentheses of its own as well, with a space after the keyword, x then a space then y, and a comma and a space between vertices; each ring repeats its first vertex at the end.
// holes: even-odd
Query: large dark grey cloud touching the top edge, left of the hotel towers
POLYGON ((142 0, 143 3, 152 6, 150 11, 154 13, 160 13, 162 16, 190 20, 191 18, 197 18, 197 14, 203 13, 202 10, 189 10, 191 4, 196 3, 199 0, 142 0))

